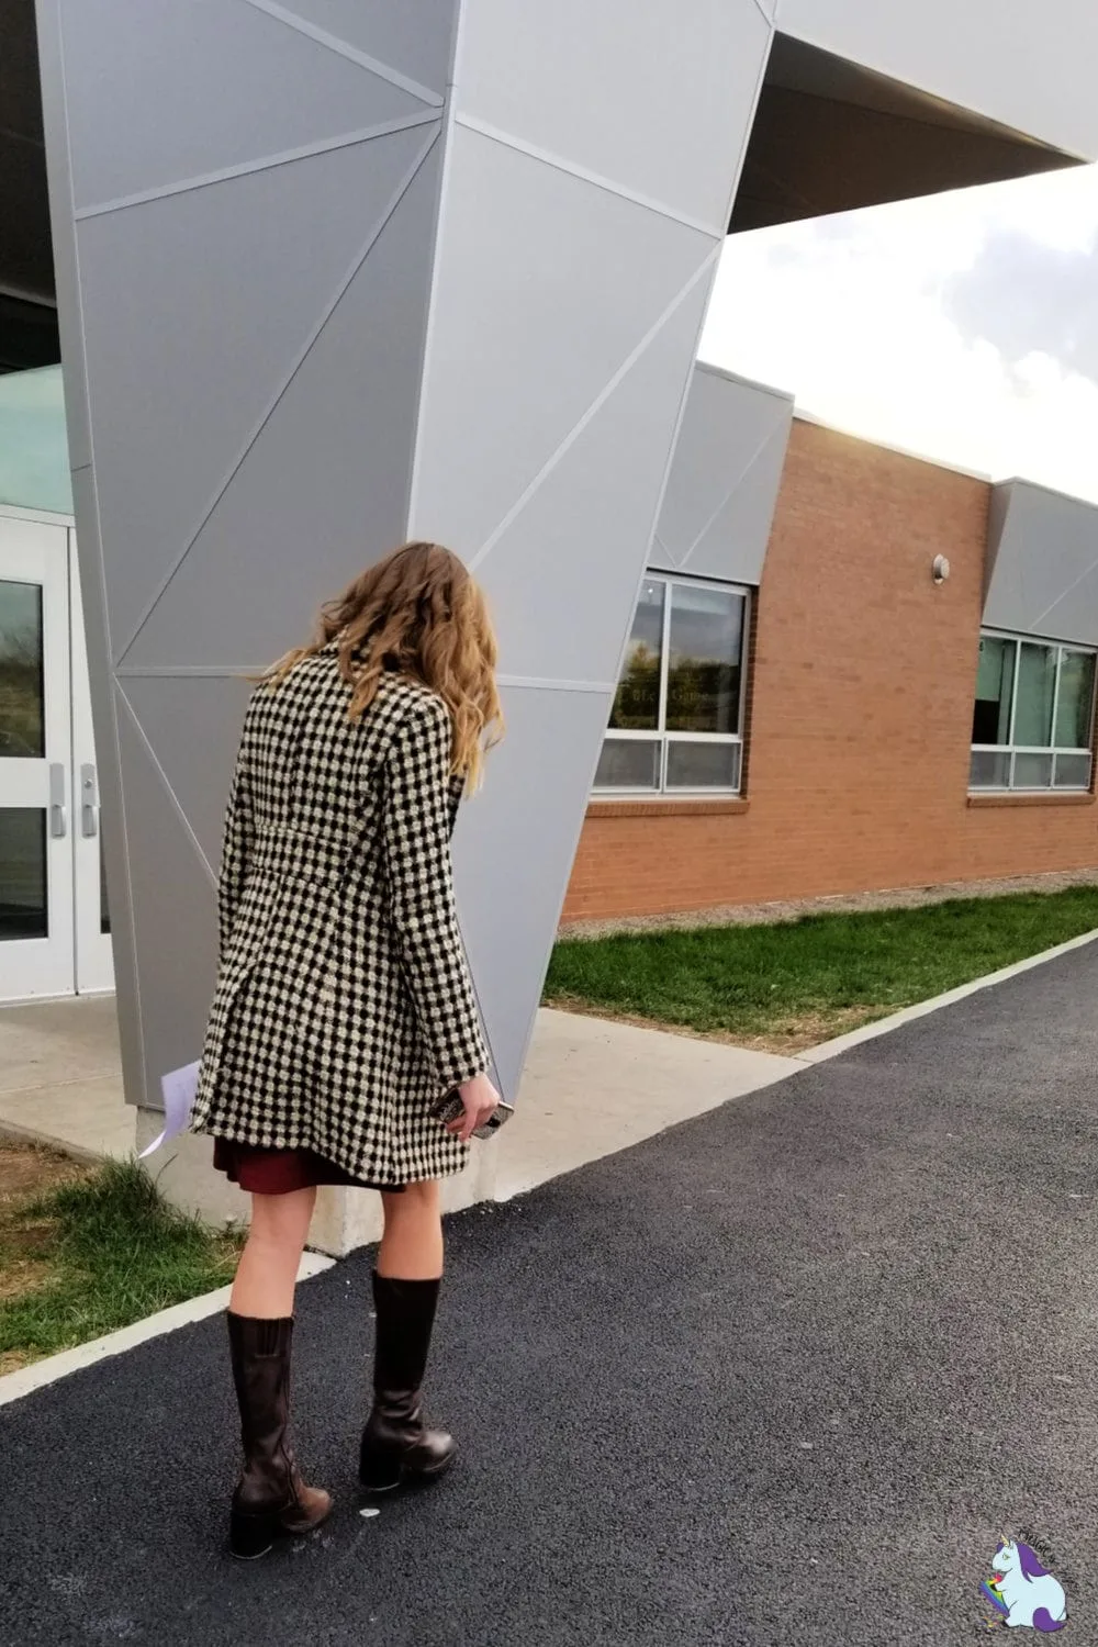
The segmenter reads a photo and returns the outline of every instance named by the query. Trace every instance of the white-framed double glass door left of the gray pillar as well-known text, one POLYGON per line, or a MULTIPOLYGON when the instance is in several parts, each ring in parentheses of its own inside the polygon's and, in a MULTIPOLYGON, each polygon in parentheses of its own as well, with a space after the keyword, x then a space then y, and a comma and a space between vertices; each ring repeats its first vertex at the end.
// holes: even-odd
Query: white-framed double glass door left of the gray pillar
POLYGON ((72 532, 0 511, 0 1001, 112 987, 72 532))

